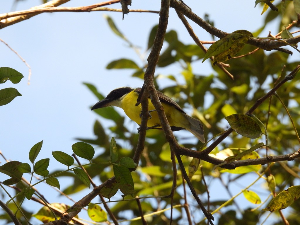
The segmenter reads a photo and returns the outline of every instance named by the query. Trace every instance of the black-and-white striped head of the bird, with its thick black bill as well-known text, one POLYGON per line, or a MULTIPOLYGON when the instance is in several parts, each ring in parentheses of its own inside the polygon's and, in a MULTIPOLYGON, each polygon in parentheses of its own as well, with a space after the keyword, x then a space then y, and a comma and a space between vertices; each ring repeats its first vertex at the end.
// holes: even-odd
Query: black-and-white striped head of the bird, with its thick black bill
POLYGON ((107 95, 106 98, 103 100, 97 102, 93 107, 92 110, 107 107, 107 106, 118 106, 118 104, 114 104, 117 101, 120 100, 120 98, 129 92, 133 91, 134 88, 131 87, 122 87, 122 88, 116 88, 107 95))

